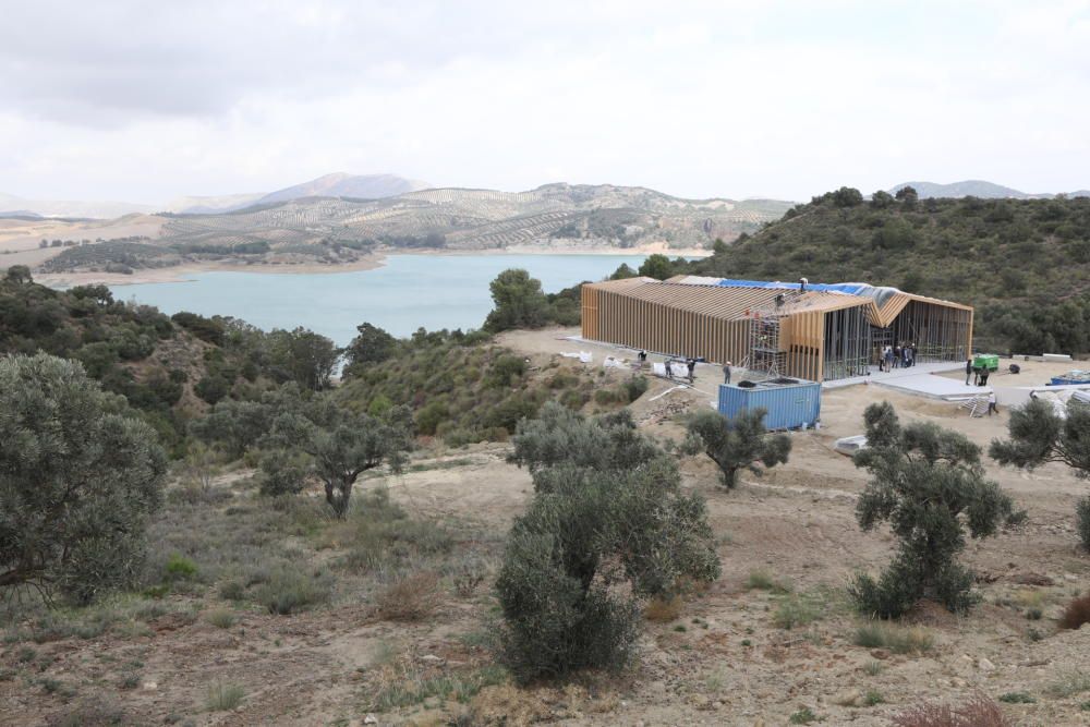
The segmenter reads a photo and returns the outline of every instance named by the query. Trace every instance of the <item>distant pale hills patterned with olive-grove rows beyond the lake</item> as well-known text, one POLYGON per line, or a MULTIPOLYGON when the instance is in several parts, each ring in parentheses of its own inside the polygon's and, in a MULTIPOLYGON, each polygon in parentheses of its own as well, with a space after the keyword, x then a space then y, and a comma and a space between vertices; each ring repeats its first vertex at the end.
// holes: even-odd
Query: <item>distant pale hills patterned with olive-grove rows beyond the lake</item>
MULTIPOLYGON (((382 199, 304 197, 229 214, 165 215, 145 244, 168 251, 138 259, 234 259, 336 265, 398 249, 600 250, 656 245, 704 249, 777 219, 789 204, 681 199, 643 187, 548 184, 529 192, 437 189, 382 199)), ((95 247, 92 245, 90 247, 95 247)), ((124 251, 131 253, 132 251, 124 251)), ((150 251, 145 251, 150 253, 150 251)), ((110 249, 72 249, 49 271, 133 265, 110 249)))

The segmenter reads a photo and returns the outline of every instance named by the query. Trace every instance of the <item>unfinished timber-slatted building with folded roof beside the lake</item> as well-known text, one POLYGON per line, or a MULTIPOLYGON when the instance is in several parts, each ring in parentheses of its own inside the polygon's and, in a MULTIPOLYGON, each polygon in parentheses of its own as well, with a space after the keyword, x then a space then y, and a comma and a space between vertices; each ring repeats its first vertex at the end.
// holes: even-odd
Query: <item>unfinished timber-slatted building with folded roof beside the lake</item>
POLYGON ((865 375, 886 346, 936 362, 972 343, 970 306, 865 283, 629 278, 584 284, 582 305, 589 340, 814 381, 865 375))

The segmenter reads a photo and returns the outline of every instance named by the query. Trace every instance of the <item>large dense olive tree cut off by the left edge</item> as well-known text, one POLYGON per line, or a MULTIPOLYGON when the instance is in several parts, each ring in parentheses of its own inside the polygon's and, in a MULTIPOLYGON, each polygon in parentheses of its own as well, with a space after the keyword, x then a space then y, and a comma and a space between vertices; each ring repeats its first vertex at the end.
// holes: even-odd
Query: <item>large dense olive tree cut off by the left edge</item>
POLYGON ((130 583, 166 469, 152 427, 80 364, 0 360, 0 591, 87 603, 130 583))

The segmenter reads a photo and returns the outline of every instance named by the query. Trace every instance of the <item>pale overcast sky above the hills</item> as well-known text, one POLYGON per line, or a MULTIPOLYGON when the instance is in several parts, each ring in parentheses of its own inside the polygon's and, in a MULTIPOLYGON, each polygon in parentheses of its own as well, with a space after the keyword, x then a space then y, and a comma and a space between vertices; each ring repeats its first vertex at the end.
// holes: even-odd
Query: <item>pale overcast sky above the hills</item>
POLYGON ((1090 0, 0 0, 0 192, 1090 187, 1090 0))

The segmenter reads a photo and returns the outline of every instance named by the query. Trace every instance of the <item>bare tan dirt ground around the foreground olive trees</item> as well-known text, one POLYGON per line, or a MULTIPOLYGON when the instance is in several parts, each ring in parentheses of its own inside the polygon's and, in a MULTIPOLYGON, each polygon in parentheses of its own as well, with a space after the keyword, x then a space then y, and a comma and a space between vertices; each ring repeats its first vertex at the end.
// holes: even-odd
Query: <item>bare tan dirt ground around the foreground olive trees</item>
MULTIPOLYGON (((508 334, 502 342, 537 367, 580 366, 558 356, 579 350, 562 340, 572 332, 508 334)), ((595 349, 590 365, 601 367, 603 353, 595 349)), ((1041 366, 1027 366, 1021 376, 1043 375, 1041 366)), ((1051 373, 1053 364, 1046 366, 1051 373)), ((628 375, 610 368, 603 378, 628 375)), ((679 438, 679 415, 707 405, 718 383, 717 371, 698 377, 697 390, 654 379, 632 404, 641 426, 679 438)), ((1003 711, 1017 725, 1087 724, 1090 628, 1056 627, 1063 606, 1086 591, 1090 574, 1090 557, 1077 547, 1074 531, 1075 502, 1087 483, 1061 465, 1026 473, 989 462, 989 475, 1028 518, 967 548, 964 559, 976 569, 984 596, 974 610, 962 618, 928 607, 912 615, 933 641, 930 650, 898 654, 855 645, 861 621, 845 602, 844 585, 859 570, 882 568, 894 541, 887 529, 860 531, 853 508, 865 476, 833 444, 861 433, 863 410, 882 400, 906 421, 956 428, 982 447, 1005 434, 1005 411, 969 419, 956 404, 856 386, 824 393, 822 427, 790 435, 788 464, 762 477, 746 474, 732 492, 718 486, 706 459, 685 460, 686 487, 708 504, 723 577, 675 618, 649 620, 639 661, 626 674, 588 677, 566 688, 493 683, 461 699, 451 692, 371 708, 378 671, 419 679, 428 670, 461 674, 487 664, 487 651, 475 645, 495 618, 486 581, 468 598, 447 593, 435 616, 411 625, 382 620, 368 597, 341 597, 290 617, 241 609, 229 629, 168 615, 143 632, 32 644, 36 654, 27 662, 45 663, 43 674, 78 684, 76 695, 41 687, 46 682, 20 667, 26 655, 21 650, 28 646, 7 642, 0 645, 0 668, 8 674, 0 679, 0 723, 63 724, 56 720, 93 696, 124 710, 135 724, 752 727, 803 724, 812 713, 826 725, 865 726, 887 725, 892 715, 924 701, 982 692, 1008 695, 1003 711), (762 580, 776 587, 752 587, 762 580), (792 606, 810 615, 785 628, 785 608, 792 606), (390 652, 398 655, 392 661, 390 652), (140 683, 120 689, 118 665, 133 658, 143 664, 140 683), (400 670, 390 671, 391 664, 400 670), (245 687, 245 699, 231 711, 208 711, 209 684, 227 678, 245 687), (1030 701, 1007 703, 1012 694, 1030 701)), ((479 535, 459 547, 484 553, 494 572, 504 533, 532 492, 529 475, 506 463, 506 452, 502 444, 427 450, 415 460, 417 471, 365 486, 388 487, 414 516, 471 523, 479 535)), ((334 555, 322 550, 315 558, 334 555)), ((220 605, 215 593, 186 604, 196 614, 220 605)))

